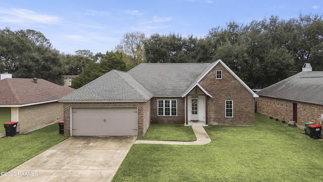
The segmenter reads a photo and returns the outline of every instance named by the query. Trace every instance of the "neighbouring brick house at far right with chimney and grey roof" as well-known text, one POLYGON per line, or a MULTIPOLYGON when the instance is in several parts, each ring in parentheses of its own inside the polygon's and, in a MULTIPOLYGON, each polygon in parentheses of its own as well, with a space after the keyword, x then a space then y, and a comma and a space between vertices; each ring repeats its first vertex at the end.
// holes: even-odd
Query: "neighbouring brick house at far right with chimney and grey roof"
POLYGON ((323 114, 323 71, 312 71, 310 64, 303 71, 257 92, 257 112, 298 126, 314 121, 321 124, 323 114))

